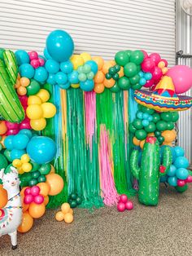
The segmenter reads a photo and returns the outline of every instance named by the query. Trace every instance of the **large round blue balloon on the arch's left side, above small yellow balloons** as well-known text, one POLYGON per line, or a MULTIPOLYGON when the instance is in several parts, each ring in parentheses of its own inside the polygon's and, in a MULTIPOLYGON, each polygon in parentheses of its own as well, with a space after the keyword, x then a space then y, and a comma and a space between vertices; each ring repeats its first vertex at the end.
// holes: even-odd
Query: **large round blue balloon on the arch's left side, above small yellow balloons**
POLYGON ((33 137, 27 146, 28 156, 37 164, 46 164, 56 155, 56 144, 53 139, 45 136, 33 137))

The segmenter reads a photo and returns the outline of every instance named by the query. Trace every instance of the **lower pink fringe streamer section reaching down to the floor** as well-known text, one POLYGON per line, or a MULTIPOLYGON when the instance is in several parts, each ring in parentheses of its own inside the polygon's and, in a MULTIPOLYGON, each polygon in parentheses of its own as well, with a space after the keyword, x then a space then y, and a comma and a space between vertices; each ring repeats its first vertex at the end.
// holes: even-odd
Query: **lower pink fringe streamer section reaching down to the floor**
POLYGON ((112 175, 111 145, 108 140, 105 126, 101 126, 100 132, 100 184, 102 190, 103 202, 105 205, 112 206, 118 202, 118 193, 112 175))

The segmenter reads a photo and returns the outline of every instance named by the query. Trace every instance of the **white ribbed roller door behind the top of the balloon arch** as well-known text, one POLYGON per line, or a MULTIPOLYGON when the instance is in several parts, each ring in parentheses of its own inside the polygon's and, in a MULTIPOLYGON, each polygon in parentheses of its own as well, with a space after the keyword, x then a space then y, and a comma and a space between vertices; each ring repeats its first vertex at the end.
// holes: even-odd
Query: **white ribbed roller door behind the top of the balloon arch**
POLYGON ((146 49, 175 63, 175 0, 0 0, 0 47, 41 52, 54 29, 72 35, 76 53, 146 49))

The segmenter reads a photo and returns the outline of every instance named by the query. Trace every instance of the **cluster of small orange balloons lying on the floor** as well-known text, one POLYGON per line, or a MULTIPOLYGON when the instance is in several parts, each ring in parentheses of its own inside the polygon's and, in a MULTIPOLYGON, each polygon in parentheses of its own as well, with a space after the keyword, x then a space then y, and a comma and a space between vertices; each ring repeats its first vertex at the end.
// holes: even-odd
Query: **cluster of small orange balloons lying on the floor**
POLYGON ((63 221, 65 223, 72 223, 73 221, 73 210, 68 203, 61 205, 61 210, 55 214, 57 221, 63 221))

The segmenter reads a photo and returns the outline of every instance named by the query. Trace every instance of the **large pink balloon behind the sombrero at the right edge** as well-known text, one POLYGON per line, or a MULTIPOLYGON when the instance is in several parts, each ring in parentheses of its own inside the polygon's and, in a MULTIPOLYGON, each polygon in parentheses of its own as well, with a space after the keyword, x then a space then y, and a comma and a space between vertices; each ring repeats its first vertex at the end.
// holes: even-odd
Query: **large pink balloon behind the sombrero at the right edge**
POLYGON ((185 65, 177 65, 169 68, 166 76, 172 77, 177 94, 190 90, 192 86, 192 68, 185 65))

